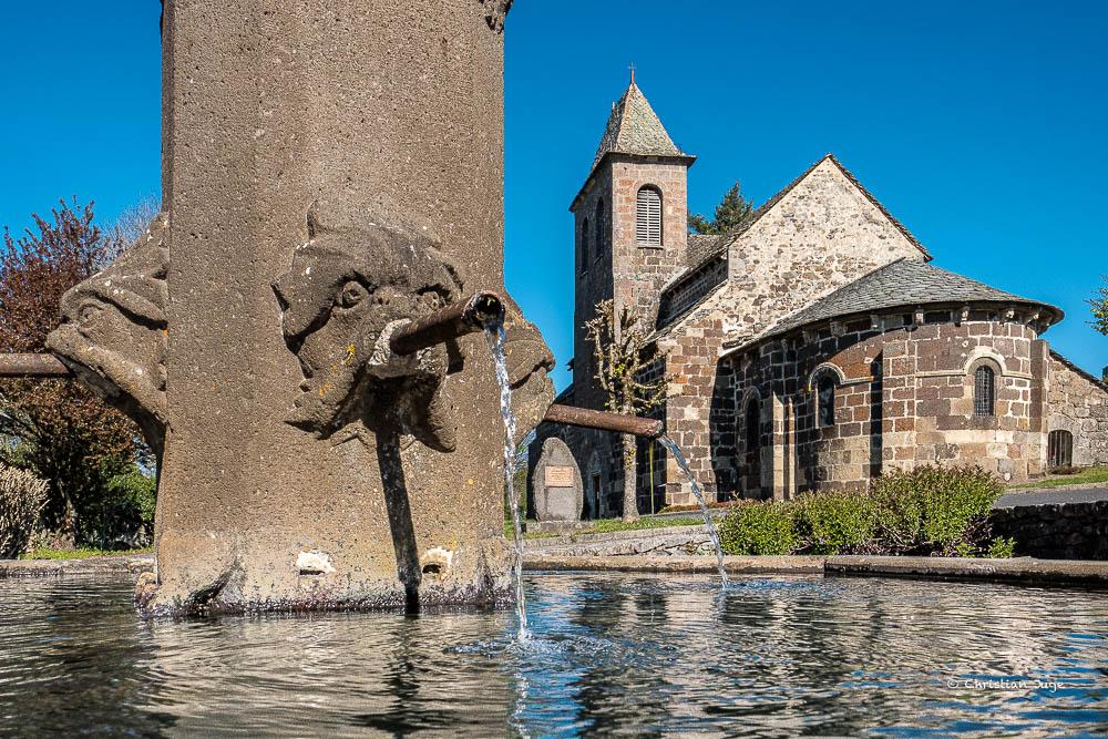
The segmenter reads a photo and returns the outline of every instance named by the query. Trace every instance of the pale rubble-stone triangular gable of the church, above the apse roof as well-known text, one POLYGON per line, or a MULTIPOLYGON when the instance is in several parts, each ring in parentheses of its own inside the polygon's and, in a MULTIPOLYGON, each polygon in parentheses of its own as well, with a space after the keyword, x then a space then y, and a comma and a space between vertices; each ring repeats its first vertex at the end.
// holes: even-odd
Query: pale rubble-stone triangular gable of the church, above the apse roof
POLYGON ((728 333, 753 337, 897 259, 931 255, 833 156, 760 208, 728 245, 728 333))

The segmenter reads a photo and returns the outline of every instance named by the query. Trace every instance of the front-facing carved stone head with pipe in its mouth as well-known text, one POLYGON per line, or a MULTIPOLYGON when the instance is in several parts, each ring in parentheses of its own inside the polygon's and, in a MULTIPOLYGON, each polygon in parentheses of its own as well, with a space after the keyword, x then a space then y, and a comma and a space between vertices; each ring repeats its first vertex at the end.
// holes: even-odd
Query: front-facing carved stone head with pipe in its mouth
POLYGON ((285 343, 304 374, 288 423, 321 438, 361 423, 452 451, 455 419, 443 379, 458 368, 456 345, 398 358, 388 339, 461 298, 462 280, 429 239, 381 218, 329 222, 315 206, 308 235, 274 285, 285 343))

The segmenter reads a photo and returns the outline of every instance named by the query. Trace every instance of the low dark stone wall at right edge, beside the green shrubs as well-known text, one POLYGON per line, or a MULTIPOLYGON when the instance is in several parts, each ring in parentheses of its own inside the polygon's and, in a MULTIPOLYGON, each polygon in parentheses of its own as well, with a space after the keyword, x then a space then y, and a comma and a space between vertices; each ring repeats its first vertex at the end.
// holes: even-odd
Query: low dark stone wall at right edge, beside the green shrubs
POLYGON ((992 521, 994 534, 1016 540, 1018 556, 1108 560, 1108 501, 997 509, 992 521))

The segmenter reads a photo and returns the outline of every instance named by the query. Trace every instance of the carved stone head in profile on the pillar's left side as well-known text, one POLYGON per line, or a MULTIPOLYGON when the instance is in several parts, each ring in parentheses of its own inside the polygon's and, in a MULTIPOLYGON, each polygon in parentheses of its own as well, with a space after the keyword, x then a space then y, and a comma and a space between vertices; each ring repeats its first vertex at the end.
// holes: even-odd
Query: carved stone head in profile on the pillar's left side
POLYGON ((61 300, 47 347, 110 406, 137 422, 161 458, 165 443, 168 217, 61 300))

